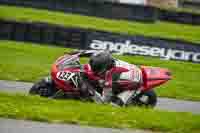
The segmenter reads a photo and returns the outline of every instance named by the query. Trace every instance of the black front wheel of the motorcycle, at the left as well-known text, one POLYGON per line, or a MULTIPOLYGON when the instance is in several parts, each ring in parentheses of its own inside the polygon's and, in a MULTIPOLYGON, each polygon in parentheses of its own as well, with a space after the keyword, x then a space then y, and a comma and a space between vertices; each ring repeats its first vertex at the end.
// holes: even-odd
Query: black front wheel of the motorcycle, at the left
POLYGON ((52 96, 55 93, 53 82, 49 78, 44 78, 39 82, 35 83, 29 90, 31 95, 40 95, 43 97, 52 96))

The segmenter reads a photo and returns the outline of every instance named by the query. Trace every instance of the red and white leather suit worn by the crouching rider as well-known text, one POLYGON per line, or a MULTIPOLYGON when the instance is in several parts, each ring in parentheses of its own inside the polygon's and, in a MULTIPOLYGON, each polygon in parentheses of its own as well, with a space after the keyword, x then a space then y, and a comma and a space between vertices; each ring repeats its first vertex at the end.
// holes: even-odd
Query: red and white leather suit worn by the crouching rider
POLYGON ((113 67, 101 75, 92 72, 88 64, 84 66, 84 69, 87 72, 86 75, 88 76, 88 79, 97 80, 100 83, 104 83, 102 101, 105 103, 110 102, 111 97, 113 95, 113 74, 119 74, 117 82, 119 81, 119 85, 124 85, 127 90, 129 88, 137 89, 142 83, 142 72, 136 65, 132 65, 117 59, 114 60, 113 67), (127 84, 127 82, 129 82, 129 84, 127 84), (130 82, 132 84, 130 84, 130 82))

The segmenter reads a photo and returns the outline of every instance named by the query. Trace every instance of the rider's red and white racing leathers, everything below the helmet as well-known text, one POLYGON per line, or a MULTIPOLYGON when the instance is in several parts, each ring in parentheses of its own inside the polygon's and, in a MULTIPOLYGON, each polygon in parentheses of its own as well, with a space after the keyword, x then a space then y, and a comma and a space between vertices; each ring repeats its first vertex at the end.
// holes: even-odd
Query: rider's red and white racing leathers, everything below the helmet
MULTIPOLYGON (((91 86, 91 81, 96 81, 95 85, 98 84, 98 86, 102 88, 100 95, 94 93, 95 101, 100 101, 102 103, 109 103, 112 101, 116 92, 119 92, 120 86, 123 86, 123 82, 121 84, 120 81, 129 82, 129 86, 126 85, 123 87, 131 87, 133 89, 139 88, 142 83, 142 73, 136 65, 117 59, 113 59, 112 67, 105 73, 94 73, 89 64, 84 65, 84 69, 87 77, 86 84, 91 86)), ((95 88, 94 85, 92 86, 95 88)))

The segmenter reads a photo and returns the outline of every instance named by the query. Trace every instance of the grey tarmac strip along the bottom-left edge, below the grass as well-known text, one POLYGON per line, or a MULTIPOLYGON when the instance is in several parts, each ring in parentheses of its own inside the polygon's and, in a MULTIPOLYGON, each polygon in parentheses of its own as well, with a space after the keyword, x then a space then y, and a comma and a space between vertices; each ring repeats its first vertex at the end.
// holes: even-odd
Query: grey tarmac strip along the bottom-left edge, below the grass
POLYGON ((0 118, 0 133, 152 133, 143 130, 120 130, 87 126, 48 124, 0 118))

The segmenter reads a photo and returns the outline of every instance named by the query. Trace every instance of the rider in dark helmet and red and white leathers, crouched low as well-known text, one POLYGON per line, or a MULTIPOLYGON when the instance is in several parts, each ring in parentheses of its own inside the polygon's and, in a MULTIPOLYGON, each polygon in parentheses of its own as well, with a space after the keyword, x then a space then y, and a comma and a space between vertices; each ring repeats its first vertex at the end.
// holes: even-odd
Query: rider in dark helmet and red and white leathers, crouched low
MULTIPOLYGON (((141 71, 137 66, 114 59, 109 51, 100 51, 93 54, 89 60, 89 65, 89 69, 91 69, 93 74, 92 76, 100 77, 100 79, 97 80, 99 86, 103 89, 102 96, 95 96, 95 98, 100 98, 98 101, 102 103, 109 103, 113 100, 115 96, 114 92, 119 86, 117 81, 128 80, 132 83, 134 88, 138 88, 142 83, 141 71), (120 68, 121 71, 115 71, 117 68, 120 68)), ((90 79, 87 80, 85 88, 91 86, 89 81, 90 79)))

